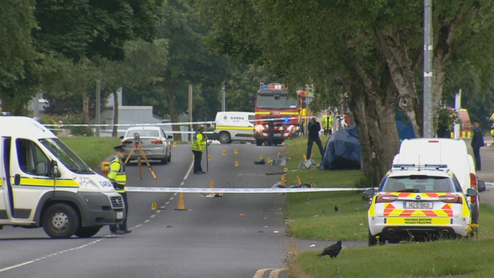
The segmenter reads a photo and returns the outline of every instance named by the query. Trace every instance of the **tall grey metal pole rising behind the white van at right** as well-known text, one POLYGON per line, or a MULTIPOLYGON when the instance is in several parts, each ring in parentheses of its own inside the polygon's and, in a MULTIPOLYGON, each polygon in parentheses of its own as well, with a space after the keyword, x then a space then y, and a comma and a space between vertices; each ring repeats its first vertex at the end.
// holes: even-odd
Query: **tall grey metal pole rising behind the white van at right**
POLYGON ((433 137, 432 130, 432 0, 424 0, 424 114, 423 137, 433 137))

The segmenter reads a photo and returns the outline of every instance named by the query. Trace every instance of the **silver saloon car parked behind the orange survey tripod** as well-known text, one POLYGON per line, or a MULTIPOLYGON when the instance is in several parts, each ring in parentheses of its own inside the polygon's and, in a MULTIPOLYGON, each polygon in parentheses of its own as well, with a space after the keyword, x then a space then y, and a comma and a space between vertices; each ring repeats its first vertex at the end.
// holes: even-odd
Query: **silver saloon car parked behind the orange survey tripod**
MULTIPOLYGON (((130 159, 137 159, 140 154, 140 146, 146 158, 159 159, 162 164, 171 161, 171 143, 168 139, 173 136, 166 137, 165 132, 159 126, 133 126, 129 127, 122 139, 122 144, 125 145, 125 159, 128 158, 132 149, 134 152, 130 159)), ((144 162, 144 161, 143 161, 144 162)))

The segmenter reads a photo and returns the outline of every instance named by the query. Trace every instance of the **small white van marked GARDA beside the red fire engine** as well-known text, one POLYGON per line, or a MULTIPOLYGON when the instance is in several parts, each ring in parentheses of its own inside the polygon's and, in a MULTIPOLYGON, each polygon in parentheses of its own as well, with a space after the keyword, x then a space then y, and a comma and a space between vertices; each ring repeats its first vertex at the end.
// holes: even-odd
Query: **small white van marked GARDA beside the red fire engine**
POLYGON ((255 141, 253 112, 218 112, 214 121, 214 133, 222 144, 255 141))

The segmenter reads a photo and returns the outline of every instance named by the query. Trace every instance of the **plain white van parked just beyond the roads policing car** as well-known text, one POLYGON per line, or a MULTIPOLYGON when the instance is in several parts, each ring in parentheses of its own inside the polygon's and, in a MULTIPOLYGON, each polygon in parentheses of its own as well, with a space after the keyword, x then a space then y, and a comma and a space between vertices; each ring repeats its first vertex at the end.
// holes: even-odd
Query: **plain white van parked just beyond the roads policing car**
MULTIPOLYGON (((393 164, 445 164, 458 179, 462 192, 466 195, 469 188, 483 192, 485 184, 479 182, 475 174, 475 164, 467 152, 463 140, 447 138, 415 138, 404 140, 400 152, 394 157, 393 164)), ((472 208, 472 223, 479 222, 479 198, 468 198, 472 208)))

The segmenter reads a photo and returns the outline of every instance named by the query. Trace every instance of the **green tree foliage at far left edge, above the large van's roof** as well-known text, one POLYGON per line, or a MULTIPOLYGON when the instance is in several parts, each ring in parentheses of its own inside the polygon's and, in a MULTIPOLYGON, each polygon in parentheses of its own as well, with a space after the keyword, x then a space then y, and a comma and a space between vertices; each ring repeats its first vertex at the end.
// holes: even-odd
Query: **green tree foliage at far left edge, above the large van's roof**
POLYGON ((38 91, 40 66, 31 31, 36 28, 34 0, 0 1, 0 98, 2 108, 14 115, 38 91))

